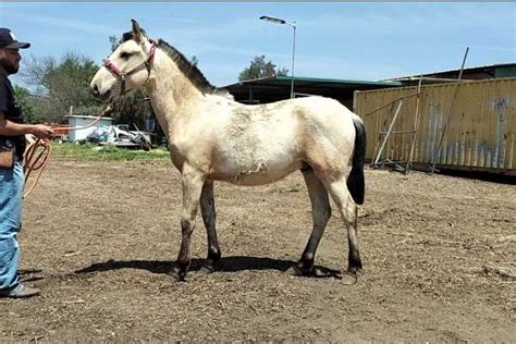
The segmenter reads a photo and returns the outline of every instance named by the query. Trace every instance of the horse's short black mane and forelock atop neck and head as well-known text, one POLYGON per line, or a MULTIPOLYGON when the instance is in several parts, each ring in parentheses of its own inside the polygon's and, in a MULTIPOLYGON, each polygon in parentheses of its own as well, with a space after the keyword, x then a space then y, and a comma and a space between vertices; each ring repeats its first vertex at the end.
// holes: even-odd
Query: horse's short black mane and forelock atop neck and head
MULTIPOLYGON (((147 37, 146 33, 144 29, 142 29, 142 34, 147 37)), ((120 40, 119 45, 120 46, 122 42, 127 41, 130 39, 133 39, 133 33, 128 32, 123 34, 122 39, 120 40)), ((116 47, 118 47, 116 46, 116 47)), ((114 47, 114 49, 116 49, 114 47)), ((158 40, 158 48, 163 50, 171 59, 172 61, 175 62, 180 71, 202 93, 206 94, 213 94, 213 95, 221 95, 221 96, 229 96, 229 93, 225 89, 220 89, 217 88, 216 86, 211 85, 208 79, 205 77, 202 72, 199 71, 199 69, 193 64, 192 62, 188 61, 188 59, 185 58, 185 56, 169 45, 167 41, 163 39, 158 40)), ((113 50, 114 50, 113 49, 113 50)))

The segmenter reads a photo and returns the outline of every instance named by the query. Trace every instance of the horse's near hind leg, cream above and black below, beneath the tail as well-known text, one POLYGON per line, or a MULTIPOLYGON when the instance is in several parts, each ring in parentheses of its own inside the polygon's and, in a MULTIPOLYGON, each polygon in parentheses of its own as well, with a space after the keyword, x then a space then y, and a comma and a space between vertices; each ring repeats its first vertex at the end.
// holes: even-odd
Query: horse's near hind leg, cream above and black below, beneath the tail
MULTIPOLYGON (((360 253, 358 250, 358 236, 357 236, 357 206, 347 189, 345 179, 340 179, 335 182, 331 182, 328 185, 328 191, 331 197, 335 201, 339 211, 344 220, 347 228, 347 241, 349 245, 348 253, 348 266, 347 271, 355 279, 348 281, 349 283, 356 282, 356 272, 361 270, 360 253)), ((346 281, 345 281, 346 282, 346 281)))

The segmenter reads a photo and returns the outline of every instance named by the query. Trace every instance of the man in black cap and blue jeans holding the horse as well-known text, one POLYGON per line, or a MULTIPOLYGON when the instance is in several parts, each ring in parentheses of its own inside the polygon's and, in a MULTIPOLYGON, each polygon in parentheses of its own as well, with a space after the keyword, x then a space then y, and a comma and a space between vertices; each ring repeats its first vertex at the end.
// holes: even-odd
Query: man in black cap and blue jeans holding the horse
POLYGON ((28 47, 29 44, 17 41, 9 28, 0 28, 0 152, 14 147, 15 155, 13 167, 0 167, 0 297, 29 297, 39 294, 39 290, 23 285, 17 273, 16 235, 22 228, 24 185, 22 161, 25 134, 49 138, 53 131, 47 125, 24 124, 22 109, 8 78, 20 69, 22 57, 19 49, 28 47))

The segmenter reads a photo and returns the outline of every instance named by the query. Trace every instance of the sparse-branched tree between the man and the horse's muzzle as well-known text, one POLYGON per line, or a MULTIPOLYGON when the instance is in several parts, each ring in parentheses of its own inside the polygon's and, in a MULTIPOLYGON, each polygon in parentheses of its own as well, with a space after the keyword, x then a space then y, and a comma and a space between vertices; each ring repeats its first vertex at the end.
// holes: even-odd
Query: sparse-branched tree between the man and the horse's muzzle
POLYGON ((75 52, 66 52, 60 61, 53 57, 29 58, 22 77, 35 89, 38 120, 63 122, 70 107, 75 114, 97 113, 101 107, 89 91, 97 70, 89 58, 75 52))

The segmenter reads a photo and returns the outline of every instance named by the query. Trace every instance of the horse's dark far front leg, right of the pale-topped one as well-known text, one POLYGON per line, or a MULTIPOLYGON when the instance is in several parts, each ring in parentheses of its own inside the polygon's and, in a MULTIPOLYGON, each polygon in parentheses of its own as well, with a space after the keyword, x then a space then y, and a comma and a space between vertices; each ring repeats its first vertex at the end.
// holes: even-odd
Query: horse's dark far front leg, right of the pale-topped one
POLYGON ((213 199, 213 182, 207 181, 202 186, 202 192, 200 194, 200 211, 208 234, 208 257, 206 258, 200 271, 202 273, 209 273, 214 271, 216 263, 220 261, 221 256, 216 230, 217 212, 213 199))

